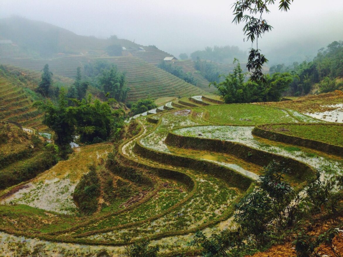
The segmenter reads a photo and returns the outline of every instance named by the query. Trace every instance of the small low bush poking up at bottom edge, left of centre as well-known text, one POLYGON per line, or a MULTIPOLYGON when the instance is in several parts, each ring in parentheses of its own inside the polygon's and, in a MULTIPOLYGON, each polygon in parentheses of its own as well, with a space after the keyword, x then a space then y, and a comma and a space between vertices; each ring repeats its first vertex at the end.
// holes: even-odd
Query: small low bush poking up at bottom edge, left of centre
POLYGON ((125 255, 127 257, 156 257, 159 252, 158 246, 149 246, 148 241, 143 241, 141 243, 134 243, 130 245, 130 238, 125 236, 125 255))

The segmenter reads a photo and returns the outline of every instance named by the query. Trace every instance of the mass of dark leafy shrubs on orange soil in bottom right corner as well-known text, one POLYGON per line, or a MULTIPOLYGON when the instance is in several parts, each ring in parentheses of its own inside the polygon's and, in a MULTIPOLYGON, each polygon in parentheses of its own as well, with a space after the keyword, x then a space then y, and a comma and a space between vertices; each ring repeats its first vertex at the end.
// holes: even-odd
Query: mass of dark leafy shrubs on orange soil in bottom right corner
MULTIPOLYGON (((338 217, 339 203, 343 199, 342 175, 324 182, 318 171, 317 176, 307 181, 306 194, 300 196, 283 178, 289 172, 275 161, 264 167, 259 186, 235 205, 235 228, 213 233, 210 237, 198 232, 191 244, 202 248, 202 256, 243 256, 251 249, 262 249, 273 240, 280 240, 278 238, 289 233, 300 219, 316 213, 333 219, 338 217)), ((316 255, 318 251, 325 248, 320 247, 322 244, 334 251, 332 243, 337 234, 338 231, 332 229, 318 237, 304 231, 298 233, 293 242, 297 256, 319 256, 316 255)))

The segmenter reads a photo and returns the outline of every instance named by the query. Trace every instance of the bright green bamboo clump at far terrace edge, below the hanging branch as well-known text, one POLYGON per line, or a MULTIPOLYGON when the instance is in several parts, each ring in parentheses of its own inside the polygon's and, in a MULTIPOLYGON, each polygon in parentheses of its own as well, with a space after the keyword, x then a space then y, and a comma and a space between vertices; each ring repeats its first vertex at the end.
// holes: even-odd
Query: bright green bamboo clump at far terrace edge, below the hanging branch
MULTIPOLYGON (((237 61, 235 59, 234 63, 237 61)), ((225 76, 224 81, 212 83, 223 96, 225 103, 280 101, 282 93, 293 81, 293 76, 289 73, 267 75, 265 82, 254 82, 250 79, 245 82, 245 75, 238 62, 233 73, 225 76)))

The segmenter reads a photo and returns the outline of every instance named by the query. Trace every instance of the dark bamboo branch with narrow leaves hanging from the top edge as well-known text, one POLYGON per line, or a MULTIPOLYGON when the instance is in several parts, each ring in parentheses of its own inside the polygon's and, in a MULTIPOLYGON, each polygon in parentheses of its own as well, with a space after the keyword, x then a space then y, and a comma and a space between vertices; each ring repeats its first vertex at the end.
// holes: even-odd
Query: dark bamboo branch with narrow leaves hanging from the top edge
MULTIPOLYGON (((293 0, 280 0, 279 10, 289 10, 291 2, 293 0)), ((272 26, 263 19, 262 15, 263 13, 269 13, 268 6, 273 4, 275 4, 275 0, 238 0, 233 4, 233 14, 235 16, 233 22, 235 24, 245 22, 244 35, 247 36, 247 40, 251 40, 251 43, 256 41, 256 48, 250 48, 247 62, 248 71, 252 71, 251 81, 265 82, 262 66, 268 60, 258 49, 258 39, 265 32, 272 29, 272 26)))

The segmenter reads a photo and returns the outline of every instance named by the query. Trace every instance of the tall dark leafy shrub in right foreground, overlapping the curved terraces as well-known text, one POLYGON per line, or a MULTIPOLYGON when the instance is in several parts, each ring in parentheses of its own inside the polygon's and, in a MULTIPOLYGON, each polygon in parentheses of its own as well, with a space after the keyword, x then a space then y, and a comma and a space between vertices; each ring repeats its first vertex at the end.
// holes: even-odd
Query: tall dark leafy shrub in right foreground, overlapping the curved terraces
POLYGON ((260 244, 270 240, 271 232, 290 227, 298 217, 299 197, 283 180, 287 172, 279 163, 270 162, 260 176, 260 187, 236 205, 235 220, 260 244))

